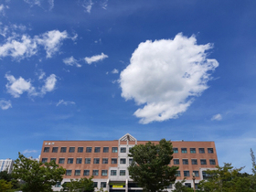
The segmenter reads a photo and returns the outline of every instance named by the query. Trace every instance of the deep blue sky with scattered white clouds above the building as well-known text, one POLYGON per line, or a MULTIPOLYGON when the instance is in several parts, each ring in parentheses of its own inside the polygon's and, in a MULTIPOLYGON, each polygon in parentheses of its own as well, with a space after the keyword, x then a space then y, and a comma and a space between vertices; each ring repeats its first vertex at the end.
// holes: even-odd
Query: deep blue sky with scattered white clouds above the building
MULTIPOLYGON (((0 1, 0 158, 44 140, 215 141, 256 151, 256 3, 0 1)), ((255 152, 256 153, 256 152, 255 152)))

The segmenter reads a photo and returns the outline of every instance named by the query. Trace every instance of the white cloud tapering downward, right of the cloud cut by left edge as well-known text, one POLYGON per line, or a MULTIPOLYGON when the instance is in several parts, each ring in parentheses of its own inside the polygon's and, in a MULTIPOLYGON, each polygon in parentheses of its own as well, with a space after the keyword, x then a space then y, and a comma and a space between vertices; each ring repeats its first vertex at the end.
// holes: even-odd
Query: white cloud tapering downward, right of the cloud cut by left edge
POLYGON ((68 38, 66 31, 52 30, 44 33, 41 37, 37 37, 37 43, 43 45, 47 51, 47 58, 59 51, 63 39, 68 38))

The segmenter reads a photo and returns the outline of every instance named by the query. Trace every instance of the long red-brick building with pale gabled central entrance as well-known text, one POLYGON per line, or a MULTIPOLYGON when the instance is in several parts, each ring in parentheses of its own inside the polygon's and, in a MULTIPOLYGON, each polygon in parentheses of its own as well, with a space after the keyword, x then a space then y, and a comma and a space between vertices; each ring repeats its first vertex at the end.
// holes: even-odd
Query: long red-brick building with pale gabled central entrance
MULTIPOLYGON (((62 183, 69 179, 93 176, 94 186, 103 187, 110 192, 140 191, 129 177, 127 167, 132 161, 129 149, 135 144, 145 144, 148 141, 137 141, 131 134, 123 135, 113 141, 44 141, 40 160, 49 162, 55 160, 64 167, 66 175, 62 183)), ((157 141, 151 141, 158 144, 157 141)), ((179 166, 176 181, 187 178, 185 185, 193 187, 192 175, 197 183, 203 179, 207 169, 218 165, 218 157, 214 142, 172 141, 173 160, 170 165, 179 166)), ((174 189, 170 185, 168 191, 174 189)), ((54 187, 60 190, 60 184, 54 187)))

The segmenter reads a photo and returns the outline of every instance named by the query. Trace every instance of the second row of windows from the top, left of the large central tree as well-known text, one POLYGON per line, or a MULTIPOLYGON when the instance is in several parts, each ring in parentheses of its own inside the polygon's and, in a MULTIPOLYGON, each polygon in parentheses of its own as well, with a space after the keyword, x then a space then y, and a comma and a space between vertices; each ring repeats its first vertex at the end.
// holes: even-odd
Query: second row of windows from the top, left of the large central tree
MULTIPOLYGON (((57 162, 56 158, 50 158, 50 161, 57 162)), ((109 158, 102 158, 102 164, 109 164, 109 158)), ((42 158, 42 163, 47 163, 48 158, 42 158)), ((132 164, 133 159, 129 159, 129 164, 132 164)), ((58 163, 58 162, 57 162, 58 163)), ((67 164, 73 164, 74 158, 68 158, 67 164)), ((65 158, 59 158, 59 164, 65 164, 65 158)), ((76 158, 76 164, 82 164, 82 158, 76 158)), ((85 158, 84 164, 91 164, 91 158, 85 158)), ((93 164, 100 164, 100 158, 93 158, 93 164)), ((117 164, 117 158, 112 158, 111 164, 117 164)), ((120 164, 126 164, 126 158, 120 159, 120 164)))

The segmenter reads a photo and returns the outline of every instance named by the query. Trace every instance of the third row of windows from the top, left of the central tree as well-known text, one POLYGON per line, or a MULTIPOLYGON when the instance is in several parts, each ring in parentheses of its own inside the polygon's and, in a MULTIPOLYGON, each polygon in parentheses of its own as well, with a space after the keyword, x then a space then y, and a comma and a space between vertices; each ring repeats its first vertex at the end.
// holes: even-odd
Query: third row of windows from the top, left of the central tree
MULTIPOLYGON (((126 170, 119 170, 119 176, 125 176, 126 170)), ((81 170, 75 170, 74 176, 80 176, 81 170)), ((66 170, 66 176, 72 176, 72 170, 66 170)), ((83 176, 91 176, 90 170, 83 170, 83 176)), ((92 170, 92 176, 99 176, 99 170, 92 170)), ((101 170, 101 176, 108 176, 108 170, 101 170)), ((111 170, 111 176, 117 176, 117 170, 111 170)))

